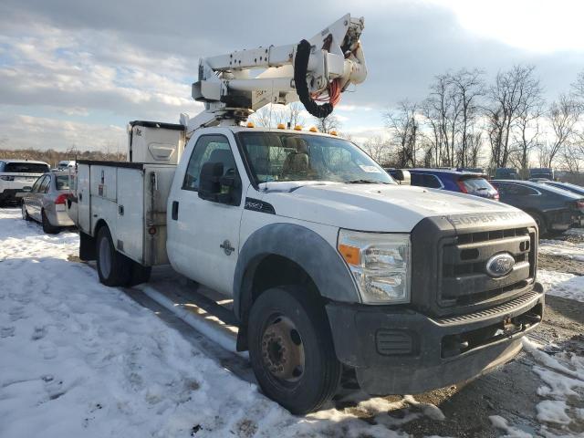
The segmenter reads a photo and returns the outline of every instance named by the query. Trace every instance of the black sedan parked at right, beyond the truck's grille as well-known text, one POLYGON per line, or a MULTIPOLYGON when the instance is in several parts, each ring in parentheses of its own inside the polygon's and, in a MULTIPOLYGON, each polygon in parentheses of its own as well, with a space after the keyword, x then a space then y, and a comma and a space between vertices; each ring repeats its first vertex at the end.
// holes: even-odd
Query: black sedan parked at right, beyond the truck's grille
POLYGON ((502 203, 508 203, 530 214, 537 223, 539 235, 565 231, 579 225, 584 216, 584 197, 543 183, 516 180, 493 180, 502 203))

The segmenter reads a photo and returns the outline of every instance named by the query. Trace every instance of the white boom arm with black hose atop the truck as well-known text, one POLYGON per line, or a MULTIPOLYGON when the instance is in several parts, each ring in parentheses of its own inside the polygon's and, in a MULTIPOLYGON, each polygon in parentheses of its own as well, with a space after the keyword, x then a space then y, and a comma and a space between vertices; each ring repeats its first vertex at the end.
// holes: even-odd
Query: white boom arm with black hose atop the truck
POLYGON ((360 46, 363 18, 349 14, 308 41, 287 46, 258 47, 202 58, 193 99, 205 110, 188 121, 188 133, 221 120, 238 122, 268 103, 300 99, 316 117, 326 117, 349 84, 367 76, 360 46), (251 77, 254 69, 264 68, 251 77), (328 95, 328 103, 317 105, 328 95))

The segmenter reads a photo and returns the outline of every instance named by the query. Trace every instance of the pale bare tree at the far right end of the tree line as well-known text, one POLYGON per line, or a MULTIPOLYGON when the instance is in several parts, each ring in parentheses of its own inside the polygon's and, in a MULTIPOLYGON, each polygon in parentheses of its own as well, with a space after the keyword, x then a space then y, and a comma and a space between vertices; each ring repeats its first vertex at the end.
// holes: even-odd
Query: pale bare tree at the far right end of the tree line
POLYGON ((552 167, 552 162, 562 151, 576 133, 576 124, 580 116, 579 104, 568 95, 562 94, 559 99, 552 102, 547 111, 547 120, 553 130, 551 140, 548 140, 545 145, 546 153, 544 157, 547 159, 546 166, 552 167))

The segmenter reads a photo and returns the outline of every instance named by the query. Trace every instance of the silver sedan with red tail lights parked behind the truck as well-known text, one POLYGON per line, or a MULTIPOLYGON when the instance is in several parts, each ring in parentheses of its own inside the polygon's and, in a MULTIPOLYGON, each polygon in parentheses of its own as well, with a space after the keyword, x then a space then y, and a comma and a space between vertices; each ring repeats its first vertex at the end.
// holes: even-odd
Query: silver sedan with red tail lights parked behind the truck
POLYGON ((72 226, 67 214, 69 179, 63 172, 48 172, 26 187, 22 202, 22 217, 26 221, 36 220, 43 224, 48 235, 58 233, 63 226, 72 226))

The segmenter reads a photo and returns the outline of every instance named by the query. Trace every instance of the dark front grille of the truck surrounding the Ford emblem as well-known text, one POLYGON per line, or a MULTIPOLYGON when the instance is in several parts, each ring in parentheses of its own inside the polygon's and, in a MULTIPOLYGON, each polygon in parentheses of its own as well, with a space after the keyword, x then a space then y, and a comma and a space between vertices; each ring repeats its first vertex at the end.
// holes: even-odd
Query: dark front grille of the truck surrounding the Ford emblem
POLYGON ((443 309, 495 305, 521 293, 535 278, 535 228, 461 234, 439 251, 438 305, 443 309), (513 255, 515 266, 494 278, 486 273, 486 262, 500 253, 513 255))

